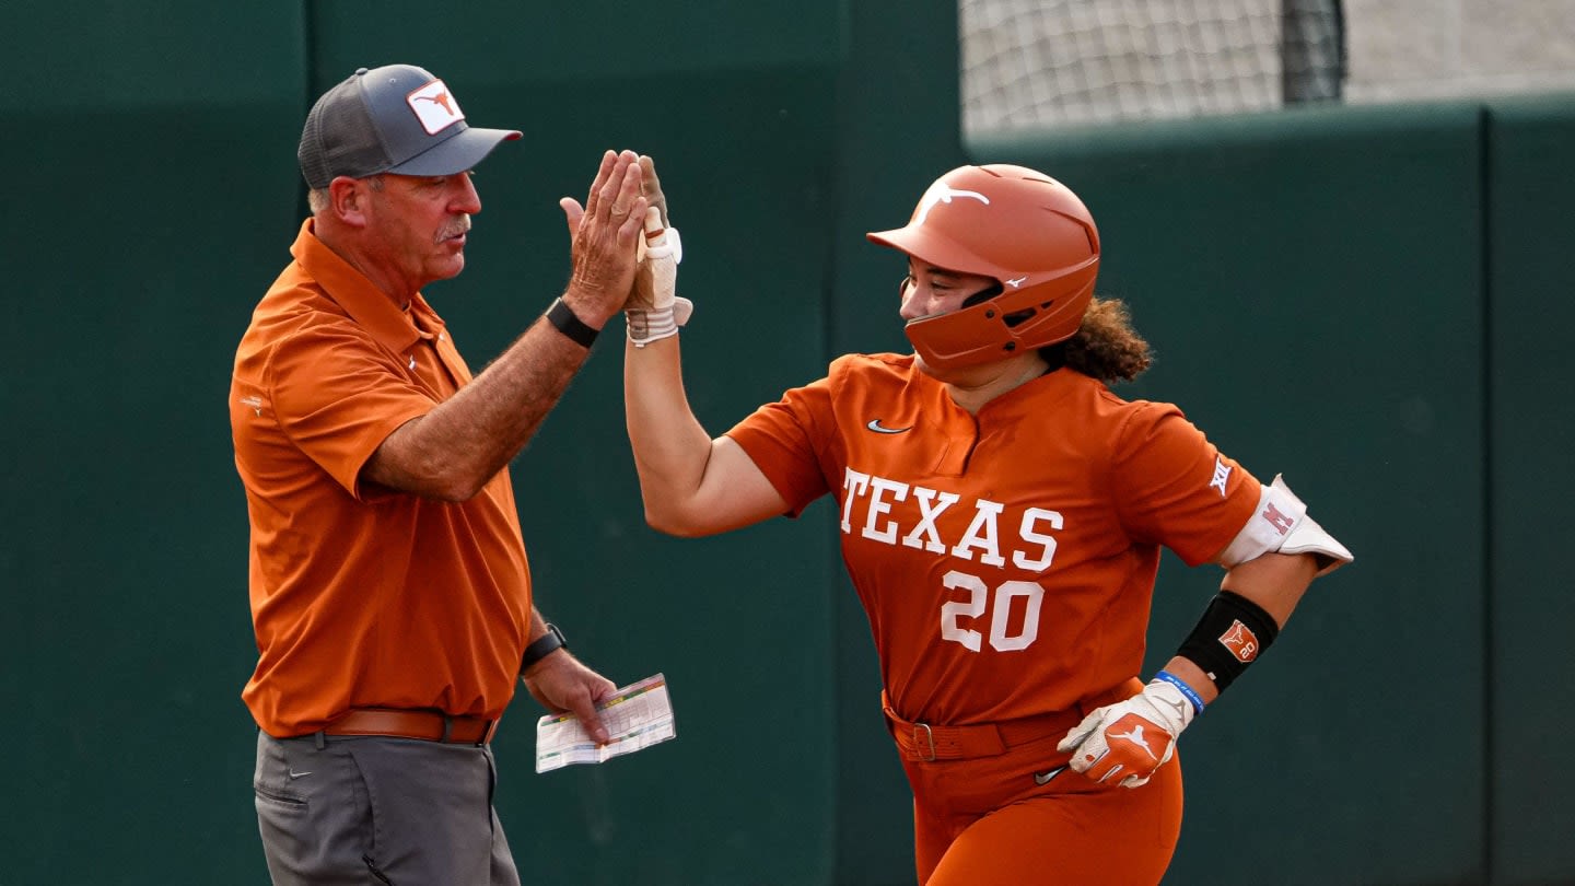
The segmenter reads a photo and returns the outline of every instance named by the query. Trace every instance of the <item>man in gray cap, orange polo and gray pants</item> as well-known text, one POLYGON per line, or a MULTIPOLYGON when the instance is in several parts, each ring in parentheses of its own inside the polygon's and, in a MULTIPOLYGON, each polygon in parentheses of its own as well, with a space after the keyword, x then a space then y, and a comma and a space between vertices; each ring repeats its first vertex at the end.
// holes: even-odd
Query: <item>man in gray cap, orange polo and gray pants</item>
POLYGON ((606 739, 614 684, 531 602, 509 460, 619 312, 647 200, 608 151, 562 296, 472 378, 421 289, 465 268, 469 170, 520 132, 469 126, 410 65, 312 107, 312 218, 235 359, 250 516, 257 815, 274 883, 520 883, 490 739, 521 678, 606 739))

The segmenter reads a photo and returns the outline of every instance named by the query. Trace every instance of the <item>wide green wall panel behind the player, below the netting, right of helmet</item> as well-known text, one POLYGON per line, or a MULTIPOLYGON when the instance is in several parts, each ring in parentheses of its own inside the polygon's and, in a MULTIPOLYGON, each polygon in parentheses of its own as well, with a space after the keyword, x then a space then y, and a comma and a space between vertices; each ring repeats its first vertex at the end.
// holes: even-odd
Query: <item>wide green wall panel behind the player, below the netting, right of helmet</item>
MULTIPOLYGON (((1183 739, 1167 883, 1482 877, 1479 115, 1337 109, 970 145, 1093 210, 1099 292, 1158 353, 1123 394, 1177 402, 1260 478, 1284 473, 1356 553, 1183 739)), ((1219 582, 1166 560, 1150 670, 1219 582)))

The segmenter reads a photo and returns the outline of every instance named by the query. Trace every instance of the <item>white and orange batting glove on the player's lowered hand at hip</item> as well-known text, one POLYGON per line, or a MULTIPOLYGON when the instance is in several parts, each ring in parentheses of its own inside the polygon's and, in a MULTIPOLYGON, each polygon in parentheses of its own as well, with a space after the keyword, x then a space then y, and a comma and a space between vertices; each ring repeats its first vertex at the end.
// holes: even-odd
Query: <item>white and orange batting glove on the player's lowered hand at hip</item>
POLYGON ((1126 702, 1090 711, 1055 749, 1071 750, 1068 766, 1096 782, 1136 788, 1175 757, 1177 738, 1194 716, 1181 689, 1156 678, 1126 702))

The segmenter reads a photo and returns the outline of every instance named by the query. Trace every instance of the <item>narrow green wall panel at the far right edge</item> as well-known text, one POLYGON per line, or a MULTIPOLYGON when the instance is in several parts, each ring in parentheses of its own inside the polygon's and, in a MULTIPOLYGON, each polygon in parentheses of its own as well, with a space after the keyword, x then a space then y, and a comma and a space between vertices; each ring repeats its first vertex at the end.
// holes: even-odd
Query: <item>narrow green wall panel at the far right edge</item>
POLYGON ((1575 95, 1488 106, 1493 881, 1575 881, 1575 95))

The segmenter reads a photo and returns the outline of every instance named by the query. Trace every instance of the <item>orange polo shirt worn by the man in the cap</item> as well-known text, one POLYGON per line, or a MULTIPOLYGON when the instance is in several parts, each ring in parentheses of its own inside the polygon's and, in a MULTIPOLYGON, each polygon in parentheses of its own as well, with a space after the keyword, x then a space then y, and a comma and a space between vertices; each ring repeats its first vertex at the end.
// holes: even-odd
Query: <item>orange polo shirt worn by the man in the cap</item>
POLYGON ((279 738, 364 706, 498 717, 531 616, 509 471, 465 503, 361 479, 469 369, 421 295, 402 311, 310 219, 290 252, 230 386, 258 650, 241 697, 279 738))

